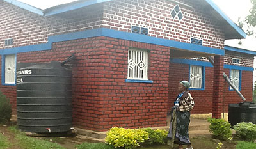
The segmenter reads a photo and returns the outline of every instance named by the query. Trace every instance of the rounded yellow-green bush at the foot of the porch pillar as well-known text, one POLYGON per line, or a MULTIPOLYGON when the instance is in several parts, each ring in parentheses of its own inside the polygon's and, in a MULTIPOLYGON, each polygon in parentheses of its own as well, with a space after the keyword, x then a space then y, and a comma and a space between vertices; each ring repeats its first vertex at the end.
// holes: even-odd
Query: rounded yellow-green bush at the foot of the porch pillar
POLYGON ((220 140, 227 140, 232 137, 231 125, 223 119, 208 118, 208 122, 211 123, 209 126, 210 132, 220 140))

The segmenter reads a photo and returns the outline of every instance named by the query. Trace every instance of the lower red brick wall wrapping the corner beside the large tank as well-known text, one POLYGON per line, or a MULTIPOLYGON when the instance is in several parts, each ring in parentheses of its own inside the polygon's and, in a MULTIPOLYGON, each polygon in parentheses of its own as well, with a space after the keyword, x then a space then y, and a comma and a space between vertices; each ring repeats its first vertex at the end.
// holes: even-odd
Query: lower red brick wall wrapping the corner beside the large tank
MULTIPOLYGON (((49 51, 20 53, 17 54, 17 62, 64 61, 74 52, 74 125, 96 131, 114 126, 138 128, 166 125, 168 47, 100 36, 53 43, 49 51), (129 47, 150 50, 148 79, 153 80, 153 84, 125 82, 129 47)), ((6 88, 4 94, 12 93, 12 103, 16 103, 15 87, 1 86, 1 90, 3 88, 6 88)))

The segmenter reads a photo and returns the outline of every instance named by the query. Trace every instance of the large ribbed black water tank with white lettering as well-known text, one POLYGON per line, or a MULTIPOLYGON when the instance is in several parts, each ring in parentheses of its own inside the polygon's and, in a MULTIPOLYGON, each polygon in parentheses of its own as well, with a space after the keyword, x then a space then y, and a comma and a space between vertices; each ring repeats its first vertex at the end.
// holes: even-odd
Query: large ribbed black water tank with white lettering
POLYGON ((17 64, 17 125, 24 132, 72 127, 71 70, 59 62, 17 64))

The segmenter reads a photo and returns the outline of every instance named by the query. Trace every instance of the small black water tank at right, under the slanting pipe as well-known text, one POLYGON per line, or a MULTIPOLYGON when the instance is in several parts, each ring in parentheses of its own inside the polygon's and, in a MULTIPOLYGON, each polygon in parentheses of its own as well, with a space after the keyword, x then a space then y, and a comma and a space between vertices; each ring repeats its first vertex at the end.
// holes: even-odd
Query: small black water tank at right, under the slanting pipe
POLYGON ((229 104, 228 122, 233 127, 239 122, 252 122, 256 124, 256 105, 253 102, 229 104))

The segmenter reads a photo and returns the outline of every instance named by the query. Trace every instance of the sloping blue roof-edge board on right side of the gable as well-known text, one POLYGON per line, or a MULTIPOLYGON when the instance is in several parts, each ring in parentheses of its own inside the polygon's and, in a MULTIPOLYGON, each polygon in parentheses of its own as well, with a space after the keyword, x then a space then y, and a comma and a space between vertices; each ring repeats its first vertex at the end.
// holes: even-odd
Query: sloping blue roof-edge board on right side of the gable
POLYGON ((232 26, 237 31, 237 33, 239 33, 239 35, 243 36, 243 38, 246 37, 246 33, 244 33, 244 31, 240 27, 238 27, 232 20, 230 20, 227 17, 227 15, 225 15, 225 13, 223 13, 220 10, 220 8, 218 8, 218 6, 216 6, 216 4, 212 2, 212 0, 205 0, 205 1, 207 1, 207 3, 210 4, 210 6, 212 6, 212 8, 216 10, 216 12, 218 12, 221 15, 221 17, 223 17, 223 19, 225 19, 228 22, 228 24, 230 24, 230 26, 232 26))

